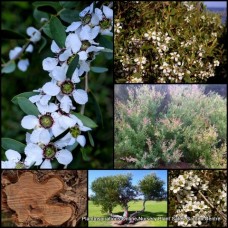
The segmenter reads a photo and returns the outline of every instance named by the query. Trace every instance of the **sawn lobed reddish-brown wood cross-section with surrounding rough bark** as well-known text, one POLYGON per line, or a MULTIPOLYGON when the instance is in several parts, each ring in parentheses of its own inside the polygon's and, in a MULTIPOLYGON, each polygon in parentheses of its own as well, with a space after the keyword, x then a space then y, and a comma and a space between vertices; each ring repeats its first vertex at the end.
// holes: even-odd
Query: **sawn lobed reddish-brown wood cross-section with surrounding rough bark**
POLYGON ((86 171, 3 171, 2 210, 17 226, 76 226, 87 214, 86 171))

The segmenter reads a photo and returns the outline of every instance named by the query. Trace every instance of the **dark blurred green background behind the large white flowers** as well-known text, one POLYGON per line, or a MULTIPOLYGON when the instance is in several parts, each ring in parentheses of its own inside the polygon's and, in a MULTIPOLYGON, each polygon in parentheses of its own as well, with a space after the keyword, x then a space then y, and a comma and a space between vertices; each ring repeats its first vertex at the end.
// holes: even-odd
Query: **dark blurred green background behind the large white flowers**
MULTIPOLYGON (((81 2, 79 11, 84 9, 92 1, 81 2)), ((26 28, 34 26, 40 28, 41 23, 33 17, 34 7, 32 2, 28 1, 3 1, 2 8, 2 29, 12 30, 26 36, 26 28)), ((64 23, 65 26, 69 24, 64 23)), ((45 36, 45 35, 44 35, 45 36)), ((108 37, 108 42, 112 45, 112 37, 108 37)), ((20 121, 25 115, 18 106, 11 102, 11 99, 22 92, 32 91, 40 88, 45 82, 50 80, 48 73, 42 69, 42 60, 53 56, 50 51, 50 40, 46 47, 38 53, 41 45, 39 41, 35 45, 35 50, 30 58, 30 66, 26 72, 18 69, 11 74, 3 74, 1 77, 1 131, 3 137, 9 137, 25 143, 25 130, 21 127, 20 121)), ((9 60, 9 51, 16 46, 23 46, 25 40, 2 40, 2 62, 9 60)), ((107 67, 108 72, 102 74, 89 73, 89 88, 95 95, 100 105, 103 115, 103 127, 96 120, 96 111, 91 99, 86 104, 85 115, 96 121, 99 127, 92 131, 95 147, 88 151, 87 156, 82 157, 81 152, 76 149, 74 161, 68 166, 69 168, 110 168, 112 167, 113 157, 113 60, 110 54, 100 54, 97 56, 94 66, 107 67), (106 56, 105 56, 106 55, 106 56)), ((79 108, 77 110, 80 110, 79 108)), ((88 137, 87 137, 87 141, 88 137)), ((89 142, 87 143, 87 145, 89 142)), ((4 153, 2 150, 2 159, 4 153)))

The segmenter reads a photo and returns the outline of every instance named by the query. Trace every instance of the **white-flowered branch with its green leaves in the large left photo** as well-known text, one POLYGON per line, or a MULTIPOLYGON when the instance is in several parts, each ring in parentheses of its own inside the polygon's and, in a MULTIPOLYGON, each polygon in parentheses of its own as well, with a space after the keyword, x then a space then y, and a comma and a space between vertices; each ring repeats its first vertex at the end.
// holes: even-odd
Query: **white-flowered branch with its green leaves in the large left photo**
MULTIPOLYGON (((43 26, 27 28, 27 43, 9 52, 10 60, 3 64, 2 73, 11 73, 16 64, 21 71, 26 71, 29 60, 24 59, 25 52, 32 52, 40 39, 45 40, 41 49, 46 38, 51 40, 51 45, 46 48, 53 54, 40 63, 47 82, 39 89, 34 88, 34 91, 12 99, 26 114, 21 126, 28 132, 24 140, 26 145, 14 139, 2 139, 7 158, 2 161, 2 168, 50 169, 58 168, 60 164, 67 168, 74 159, 73 152, 81 152, 86 159, 91 150, 87 150, 87 140, 91 146, 95 144, 92 130, 98 125, 84 113, 89 97, 95 100, 92 95, 88 96, 91 93, 90 71, 103 73, 108 70, 91 66, 91 63, 101 52, 112 53, 101 44, 101 40, 107 43, 107 37, 113 35, 112 2, 91 1, 83 8, 84 3, 77 1, 34 2, 33 5, 36 17, 44 17, 41 18, 43 26)), ((18 36, 12 31, 4 33, 18 36)))

